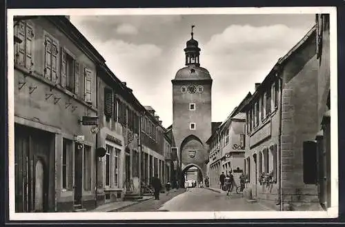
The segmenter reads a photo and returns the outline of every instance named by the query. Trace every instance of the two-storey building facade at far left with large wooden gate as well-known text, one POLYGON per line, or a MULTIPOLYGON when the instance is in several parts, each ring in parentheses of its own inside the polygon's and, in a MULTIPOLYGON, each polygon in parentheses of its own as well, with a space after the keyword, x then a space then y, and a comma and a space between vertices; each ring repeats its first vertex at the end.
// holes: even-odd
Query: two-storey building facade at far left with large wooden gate
POLYGON ((66 17, 14 25, 15 210, 92 208, 96 135, 81 119, 97 117, 104 59, 66 17))

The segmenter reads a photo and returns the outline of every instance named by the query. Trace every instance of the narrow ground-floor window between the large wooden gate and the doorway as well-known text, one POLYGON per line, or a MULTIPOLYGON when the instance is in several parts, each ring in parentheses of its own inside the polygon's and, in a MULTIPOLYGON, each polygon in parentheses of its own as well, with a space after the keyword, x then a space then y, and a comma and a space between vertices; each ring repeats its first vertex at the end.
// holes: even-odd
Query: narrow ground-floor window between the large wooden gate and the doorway
POLYGON ((72 190, 73 153, 72 140, 63 138, 62 142, 62 190, 72 190))

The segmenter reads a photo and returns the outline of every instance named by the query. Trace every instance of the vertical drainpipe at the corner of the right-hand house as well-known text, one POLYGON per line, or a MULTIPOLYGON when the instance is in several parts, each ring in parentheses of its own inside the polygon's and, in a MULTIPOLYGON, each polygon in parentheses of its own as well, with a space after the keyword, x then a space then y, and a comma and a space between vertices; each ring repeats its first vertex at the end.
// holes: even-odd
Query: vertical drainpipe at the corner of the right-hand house
MULTIPOLYGON (((279 70, 280 71, 280 70, 279 70)), ((283 201, 282 201, 282 112, 283 112, 283 79, 278 74, 279 72, 275 72, 275 75, 279 81, 279 91, 280 91, 280 97, 279 101, 279 210, 283 210, 283 201)))

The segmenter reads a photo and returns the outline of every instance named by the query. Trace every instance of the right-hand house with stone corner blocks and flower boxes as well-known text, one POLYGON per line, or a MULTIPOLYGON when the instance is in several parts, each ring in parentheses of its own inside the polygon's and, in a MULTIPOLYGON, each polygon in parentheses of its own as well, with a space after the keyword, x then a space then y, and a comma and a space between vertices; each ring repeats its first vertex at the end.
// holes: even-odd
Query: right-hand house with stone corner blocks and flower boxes
MULTIPOLYGON (((257 86, 247 106, 246 195, 278 210, 319 210, 315 26, 257 86)), ((323 90, 328 90, 323 84, 323 90)))

